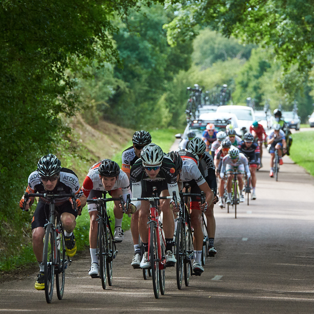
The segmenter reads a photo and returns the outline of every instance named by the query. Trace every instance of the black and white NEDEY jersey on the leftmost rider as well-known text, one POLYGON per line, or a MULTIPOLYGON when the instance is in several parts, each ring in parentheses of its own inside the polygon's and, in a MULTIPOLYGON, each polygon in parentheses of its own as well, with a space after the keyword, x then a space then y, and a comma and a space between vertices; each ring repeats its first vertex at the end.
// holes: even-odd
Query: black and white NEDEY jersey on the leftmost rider
MULTIPOLYGON (((83 191, 79 185, 77 175, 70 169, 61 168, 60 178, 52 191, 46 191, 43 186, 38 171, 34 171, 28 177, 28 187, 26 189, 28 193, 46 193, 49 194, 70 194, 75 193, 76 198, 83 196, 83 191)), ((41 198, 46 203, 49 203, 46 198, 41 198)), ((55 204, 60 205, 69 201, 68 197, 56 198, 55 204)))

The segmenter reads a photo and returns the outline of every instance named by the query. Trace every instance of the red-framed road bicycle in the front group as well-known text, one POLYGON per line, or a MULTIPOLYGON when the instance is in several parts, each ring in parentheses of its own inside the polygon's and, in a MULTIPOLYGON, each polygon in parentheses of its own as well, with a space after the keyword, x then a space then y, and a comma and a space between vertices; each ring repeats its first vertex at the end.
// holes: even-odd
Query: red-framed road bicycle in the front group
POLYGON ((157 196, 157 188, 153 187, 153 197, 150 198, 130 198, 127 195, 127 201, 149 201, 150 210, 148 217, 148 260, 150 261, 150 269, 152 275, 154 296, 159 298, 159 294, 165 294, 165 234, 162 229, 162 222, 158 211, 158 200, 173 199, 176 204, 176 195, 173 196, 157 196))

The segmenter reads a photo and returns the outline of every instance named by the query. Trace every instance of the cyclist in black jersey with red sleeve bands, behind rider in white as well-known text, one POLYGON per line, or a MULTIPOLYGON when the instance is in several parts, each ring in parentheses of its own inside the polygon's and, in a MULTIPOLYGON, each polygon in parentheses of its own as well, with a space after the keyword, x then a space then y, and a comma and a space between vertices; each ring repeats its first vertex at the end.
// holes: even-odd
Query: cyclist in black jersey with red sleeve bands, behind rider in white
POLYGON ((240 143, 238 148, 240 152, 243 153, 246 158, 249 160, 251 180, 252 180, 252 199, 256 199, 255 187, 256 187, 256 170, 260 165, 260 150, 259 145, 254 141, 254 136, 251 133, 244 134, 244 140, 240 143))

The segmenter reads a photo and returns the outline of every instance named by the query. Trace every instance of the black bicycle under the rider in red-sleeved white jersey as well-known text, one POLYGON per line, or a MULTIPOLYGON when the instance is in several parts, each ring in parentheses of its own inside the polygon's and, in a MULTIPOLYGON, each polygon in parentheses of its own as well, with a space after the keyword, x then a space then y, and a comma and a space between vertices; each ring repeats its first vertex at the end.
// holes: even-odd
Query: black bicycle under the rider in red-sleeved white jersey
MULTIPOLYGON (((119 198, 106 198, 106 191, 103 191, 104 198, 88 199, 87 203, 94 203, 98 210, 98 228, 97 228, 97 257, 99 260, 99 276, 92 275, 92 278, 100 278, 103 289, 106 289, 107 280, 109 286, 112 286, 112 263, 116 258, 118 250, 113 239, 111 230, 111 220, 106 203, 110 201, 120 201, 122 208, 124 202, 122 196, 119 198)), ((127 204, 128 205, 128 204, 127 204)), ((120 242, 120 241, 118 241, 120 242)))

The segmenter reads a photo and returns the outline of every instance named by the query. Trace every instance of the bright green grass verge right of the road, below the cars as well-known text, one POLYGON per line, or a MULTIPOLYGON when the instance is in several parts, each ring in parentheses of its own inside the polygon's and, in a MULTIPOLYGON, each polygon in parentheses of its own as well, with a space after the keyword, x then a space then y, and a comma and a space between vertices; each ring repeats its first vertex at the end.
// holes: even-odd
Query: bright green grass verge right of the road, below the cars
POLYGON ((314 176, 314 132, 299 132, 291 136, 290 158, 314 176))

